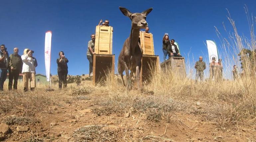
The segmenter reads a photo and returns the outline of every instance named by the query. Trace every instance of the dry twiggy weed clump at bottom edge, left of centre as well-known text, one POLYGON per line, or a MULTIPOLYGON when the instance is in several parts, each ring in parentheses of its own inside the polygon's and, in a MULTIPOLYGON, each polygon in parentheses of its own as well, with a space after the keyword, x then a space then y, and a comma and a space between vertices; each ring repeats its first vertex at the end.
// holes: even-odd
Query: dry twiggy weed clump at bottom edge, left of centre
POLYGON ((113 130, 102 129, 100 126, 85 126, 73 132, 73 139, 76 142, 115 142, 117 141, 117 134, 113 130))

